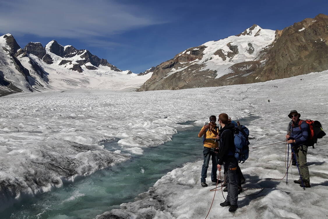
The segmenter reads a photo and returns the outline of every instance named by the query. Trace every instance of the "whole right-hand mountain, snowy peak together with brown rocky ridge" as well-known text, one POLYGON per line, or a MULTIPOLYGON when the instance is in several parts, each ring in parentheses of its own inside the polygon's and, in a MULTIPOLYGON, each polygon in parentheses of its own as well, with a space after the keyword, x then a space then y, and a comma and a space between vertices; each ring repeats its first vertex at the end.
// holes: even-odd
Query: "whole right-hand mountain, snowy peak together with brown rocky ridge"
POLYGON ((327 69, 328 16, 318 14, 281 31, 254 24, 189 48, 154 67, 139 91, 253 83, 327 69))

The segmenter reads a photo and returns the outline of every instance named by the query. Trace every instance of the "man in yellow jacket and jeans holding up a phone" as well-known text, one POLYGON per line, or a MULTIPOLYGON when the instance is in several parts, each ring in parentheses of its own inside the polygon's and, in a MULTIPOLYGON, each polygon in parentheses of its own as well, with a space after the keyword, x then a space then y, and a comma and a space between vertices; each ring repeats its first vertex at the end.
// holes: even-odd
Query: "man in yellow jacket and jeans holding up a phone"
MULTIPOLYGON (((203 136, 203 155, 204 155, 204 164, 202 166, 202 173, 200 178, 200 184, 202 187, 206 187, 206 176, 207 169, 210 163, 210 158, 212 157, 212 174, 211 180, 212 183, 217 183, 216 171, 217 171, 217 150, 218 150, 218 141, 216 136, 218 135, 218 127, 216 126, 216 117, 210 116, 210 122, 202 127, 198 133, 198 138, 203 136), (215 150, 216 149, 216 150, 215 150)), ((221 181, 219 181, 221 182, 221 181)))

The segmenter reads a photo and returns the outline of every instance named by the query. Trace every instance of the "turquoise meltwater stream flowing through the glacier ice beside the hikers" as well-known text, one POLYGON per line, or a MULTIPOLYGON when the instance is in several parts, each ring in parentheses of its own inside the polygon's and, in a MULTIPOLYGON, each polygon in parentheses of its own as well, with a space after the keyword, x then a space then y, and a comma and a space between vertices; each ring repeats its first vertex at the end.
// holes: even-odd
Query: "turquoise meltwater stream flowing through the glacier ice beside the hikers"
MULTIPOLYGON (((183 124, 191 124, 186 122, 183 124)), ((248 125, 246 120, 243 124, 248 125)), ((172 141, 145 148, 142 155, 116 164, 64 188, 15 204, 1 212, 2 219, 90 219, 121 203, 133 201, 138 194, 167 172, 187 162, 202 159, 201 126, 179 129, 172 141)), ((105 144, 109 150, 117 142, 105 144)), ((121 148, 120 148, 121 149, 121 148)))

